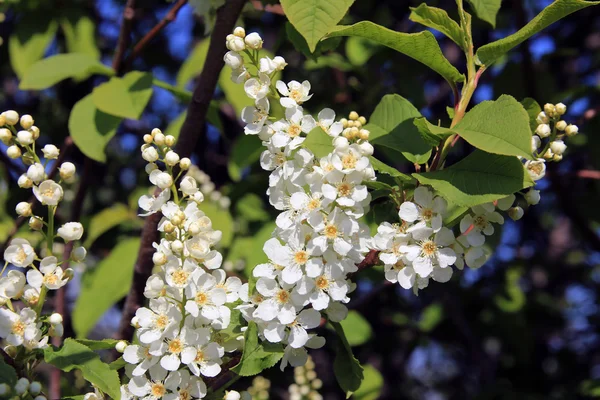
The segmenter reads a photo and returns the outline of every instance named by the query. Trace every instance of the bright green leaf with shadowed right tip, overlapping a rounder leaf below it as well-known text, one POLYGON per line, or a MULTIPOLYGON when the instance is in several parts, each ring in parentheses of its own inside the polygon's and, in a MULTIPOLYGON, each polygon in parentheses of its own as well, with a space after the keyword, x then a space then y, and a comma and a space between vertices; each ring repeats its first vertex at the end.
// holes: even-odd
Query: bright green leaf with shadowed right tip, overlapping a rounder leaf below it
POLYGON ((94 88, 98 110, 117 117, 139 119, 152 97, 152 74, 133 71, 94 88))

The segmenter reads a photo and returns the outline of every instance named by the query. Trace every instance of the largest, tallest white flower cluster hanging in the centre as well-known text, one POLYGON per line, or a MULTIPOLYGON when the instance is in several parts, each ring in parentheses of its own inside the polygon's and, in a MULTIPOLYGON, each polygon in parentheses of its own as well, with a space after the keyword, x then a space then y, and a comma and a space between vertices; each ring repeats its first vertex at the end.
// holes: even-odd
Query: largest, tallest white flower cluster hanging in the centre
POLYGON ((331 109, 317 118, 303 105, 312 94, 308 81, 285 83, 276 77, 285 66, 282 57, 260 58, 262 39, 236 28, 227 38, 224 57, 232 79, 243 83, 254 105, 242 111, 246 134, 258 135, 266 150, 261 166, 270 171, 269 201, 281 211, 277 229, 264 245, 269 258, 253 270, 255 290, 244 285, 240 306, 257 323, 260 336, 285 345, 281 368, 304 365, 305 347, 324 344, 310 333, 322 313, 330 320, 345 318, 353 285, 348 274, 357 270, 368 251, 368 228, 361 222, 371 200, 365 181, 375 179, 368 156, 373 147, 364 117, 351 113, 335 120, 331 109), (284 118, 269 117, 270 100, 279 100, 284 118), (313 132, 315 131, 315 132, 313 132), (328 135, 333 150, 316 157, 302 144, 309 135, 328 135))

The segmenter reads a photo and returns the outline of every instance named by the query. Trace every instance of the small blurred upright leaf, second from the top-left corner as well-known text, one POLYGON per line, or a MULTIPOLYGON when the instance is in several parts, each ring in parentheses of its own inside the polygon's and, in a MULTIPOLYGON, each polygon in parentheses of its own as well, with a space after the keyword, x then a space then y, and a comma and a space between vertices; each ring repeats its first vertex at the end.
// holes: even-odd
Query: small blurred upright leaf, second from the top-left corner
POLYGON ((96 46, 96 25, 90 17, 73 11, 61 18, 60 26, 69 53, 87 54, 95 60, 100 59, 100 50, 96 46))

